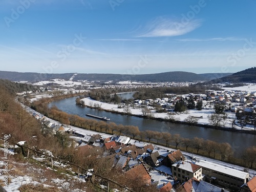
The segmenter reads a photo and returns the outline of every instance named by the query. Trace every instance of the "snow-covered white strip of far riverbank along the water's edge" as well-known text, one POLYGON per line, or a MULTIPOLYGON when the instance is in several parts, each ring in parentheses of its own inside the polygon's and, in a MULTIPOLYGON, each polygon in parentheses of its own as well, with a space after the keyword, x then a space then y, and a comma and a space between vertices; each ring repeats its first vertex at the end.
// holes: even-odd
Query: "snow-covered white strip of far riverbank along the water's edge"
POLYGON ((130 115, 140 118, 147 118, 147 119, 153 119, 158 121, 166 121, 166 122, 172 122, 172 123, 181 123, 181 124, 188 124, 188 125, 194 125, 194 126, 201 126, 206 127, 210 129, 217 129, 217 130, 223 130, 223 131, 232 131, 232 132, 239 132, 239 133, 247 133, 247 134, 256 134, 254 131, 254 128, 251 126, 244 126, 243 129, 241 129, 240 126, 237 124, 233 125, 232 128, 232 121, 236 119, 236 114, 227 112, 228 120, 225 123, 225 127, 221 126, 214 126, 211 125, 208 117, 211 114, 214 114, 215 111, 209 110, 209 109, 203 109, 201 111, 197 110, 189 110, 187 113, 174 113, 172 115, 172 119, 169 118, 169 115, 167 113, 156 113, 155 110, 151 110, 152 116, 143 116, 143 112, 141 108, 132 108, 131 106, 122 105, 123 108, 120 108, 120 105, 118 104, 111 104, 111 103, 104 103, 101 101, 96 101, 91 99, 90 97, 81 99, 83 106, 86 106, 88 108, 97 109, 105 112, 110 113, 117 113, 121 115, 130 115), (128 109, 128 110, 127 110, 128 109), (129 113, 127 113, 129 111, 129 113), (186 118, 189 116, 196 117, 198 119, 197 123, 193 122, 187 122, 186 118))

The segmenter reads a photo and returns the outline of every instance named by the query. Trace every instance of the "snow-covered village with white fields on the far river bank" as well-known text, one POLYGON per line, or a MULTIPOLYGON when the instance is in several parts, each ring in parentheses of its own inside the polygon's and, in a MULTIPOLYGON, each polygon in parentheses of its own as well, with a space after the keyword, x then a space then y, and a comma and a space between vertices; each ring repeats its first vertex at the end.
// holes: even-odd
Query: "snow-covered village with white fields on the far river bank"
POLYGON ((165 98, 137 99, 131 104, 105 103, 90 97, 81 99, 81 102, 86 106, 100 106, 106 111, 145 118, 255 131, 256 91, 254 87, 252 84, 251 91, 248 91, 248 86, 244 86, 223 88, 223 91, 208 90, 204 94, 167 94, 168 97, 165 98), (183 110, 176 111, 177 101, 184 103, 183 110), (197 109, 198 103, 201 103, 200 109, 197 109), (216 121, 216 119, 219 120, 216 121))

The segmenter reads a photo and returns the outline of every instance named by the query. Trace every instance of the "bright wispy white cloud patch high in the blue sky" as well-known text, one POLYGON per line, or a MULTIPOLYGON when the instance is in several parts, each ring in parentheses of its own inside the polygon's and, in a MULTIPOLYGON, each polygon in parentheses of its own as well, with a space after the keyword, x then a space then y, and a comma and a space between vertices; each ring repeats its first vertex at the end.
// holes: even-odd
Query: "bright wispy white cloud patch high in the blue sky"
POLYGON ((179 36, 194 31, 201 26, 202 21, 192 19, 187 23, 182 23, 174 18, 157 17, 152 20, 144 29, 144 32, 137 37, 170 37, 179 36))

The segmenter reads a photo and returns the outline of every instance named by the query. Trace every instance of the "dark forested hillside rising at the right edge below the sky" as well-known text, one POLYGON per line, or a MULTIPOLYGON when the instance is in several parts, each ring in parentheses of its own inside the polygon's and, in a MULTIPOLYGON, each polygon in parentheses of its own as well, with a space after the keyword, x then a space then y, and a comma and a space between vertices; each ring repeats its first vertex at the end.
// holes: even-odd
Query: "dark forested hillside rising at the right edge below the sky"
POLYGON ((239 82, 251 82, 256 83, 256 67, 249 68, 232 75, 228 75, 219 79, 215 79, 209 81, 209 83, 222 83, 222 82, 230 82, 230 83, 239 83, 239 82))

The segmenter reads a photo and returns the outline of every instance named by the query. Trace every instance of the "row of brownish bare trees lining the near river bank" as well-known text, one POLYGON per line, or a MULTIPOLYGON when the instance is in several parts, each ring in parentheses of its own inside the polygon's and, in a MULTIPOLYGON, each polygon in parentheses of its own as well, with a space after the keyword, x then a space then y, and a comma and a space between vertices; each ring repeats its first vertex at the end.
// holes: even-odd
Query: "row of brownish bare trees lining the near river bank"
MULTIPOLYGON (((139 131, 137 126, 122 125, 114 122, 107 123, 105 121, 97 121, 94 119, 86 119, 79 117, 78 115, 70 115, 65 112, 59 111, 56 106, 51 109, 47 109, 49 117, 52 117, 62 123, 70 124, 73 126, 82 127, 83 129, 104 132, 109 134, 117 134, 132 137, 133 139, 156 142, 157 144, 163 144, 165 146, 171 146, 177 148, 184 148, 186 151, 195 152, 197 154, 204 154, 208 157, 218 158, 220 160, 230 160, 233 158, 233 148, 229 143, 218 143, 211 140, 204 140, 202 138, 195 137, 193 139, 182 138, 179 134, 170 134, 168 132, 158 131, 139 131)), ((169 119, 172 120, 173 115, 169 115, 169 119)), ((226 118, 219 118, 220 122, 226 120, 226 118)), ((196 122, 196 119, 189 117, 188 121, 196 122)))

